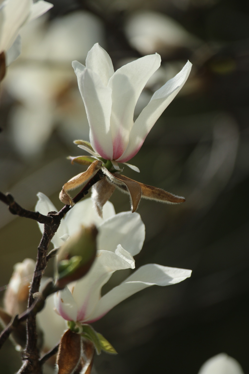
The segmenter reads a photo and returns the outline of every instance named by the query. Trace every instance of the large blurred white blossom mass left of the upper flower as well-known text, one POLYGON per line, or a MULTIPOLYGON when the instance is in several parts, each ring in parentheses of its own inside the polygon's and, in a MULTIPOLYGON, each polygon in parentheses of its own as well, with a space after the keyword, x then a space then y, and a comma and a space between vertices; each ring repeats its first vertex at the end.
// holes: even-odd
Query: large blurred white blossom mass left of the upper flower
POLYGON ((71 62, 84 62, 94 43, 104 44, 102 23, 83 11, 52 22, 44 16, 27 25, 21 36, 21 56, 4 80, 5 89, 19 102, 10 113, 16 148, 26 157, 41 153, 56 126, 66 142, 88 138, 71 62))

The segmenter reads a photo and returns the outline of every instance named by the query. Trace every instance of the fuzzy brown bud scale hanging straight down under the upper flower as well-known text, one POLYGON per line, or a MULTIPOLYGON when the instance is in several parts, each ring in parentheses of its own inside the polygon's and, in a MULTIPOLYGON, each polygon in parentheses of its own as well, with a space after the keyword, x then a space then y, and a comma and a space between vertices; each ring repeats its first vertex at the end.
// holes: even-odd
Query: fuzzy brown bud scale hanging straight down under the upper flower
POLYGON ((114 190, 114 184, 109 183, 106 177, 95 183, 92 187, 91 199, 101 218, 103 218, 103 206, 110 199, 114 190))

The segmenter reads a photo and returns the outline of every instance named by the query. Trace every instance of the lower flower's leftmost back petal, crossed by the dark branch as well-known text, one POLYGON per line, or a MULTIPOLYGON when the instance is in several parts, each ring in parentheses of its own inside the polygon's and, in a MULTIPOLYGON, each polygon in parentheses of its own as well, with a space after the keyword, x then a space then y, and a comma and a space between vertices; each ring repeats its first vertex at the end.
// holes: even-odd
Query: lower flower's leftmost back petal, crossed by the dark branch
MULTIPOLYGON (((36 212, 40 212, 41 214, 44 214, 44 215, 47 215, 48 212, 54 212, 54 211, 57 212, 55 205, 53 205, 52 201, 44 193, 38 192, 36 196, 38 197, 38 201, 35 205, 36 212)), ((41 230, 41 233, 43 233, 43 229, 44 229, 43 223, 38 223, 38 226, 41 230)), ((60 239, 60 237, 62 237, 66 233, 67 233, 67 228, 65 225, 65 220, 64 218, 62 218, 62 220, 60 221, 60 226, 57 232, 55 233, 55 236, 51 240, 55 248, 63 244, 63 240, 60 239)))

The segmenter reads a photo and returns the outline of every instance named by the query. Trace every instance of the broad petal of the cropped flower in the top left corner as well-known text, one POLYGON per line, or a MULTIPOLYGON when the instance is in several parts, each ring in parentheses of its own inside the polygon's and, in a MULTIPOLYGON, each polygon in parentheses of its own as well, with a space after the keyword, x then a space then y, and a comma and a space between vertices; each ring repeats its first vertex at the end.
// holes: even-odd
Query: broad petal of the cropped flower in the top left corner
POLYGON ((1 28, 0 51, 8 50, 18 36, 20 27, 31 11, 32 0, 8 0, 3 4, 3 25, 1 28))

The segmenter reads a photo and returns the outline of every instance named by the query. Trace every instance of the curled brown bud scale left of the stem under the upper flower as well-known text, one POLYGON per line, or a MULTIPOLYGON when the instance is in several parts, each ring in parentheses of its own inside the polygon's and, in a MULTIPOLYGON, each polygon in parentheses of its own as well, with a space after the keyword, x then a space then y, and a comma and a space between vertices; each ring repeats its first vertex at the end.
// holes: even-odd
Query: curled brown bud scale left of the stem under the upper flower
POLYGON ((87 171, 75 175, 75 177, 71 178, 67 183, 65 183, 62 191, 60 192, 60 201, 64 204, 74 205, 71 196, 67 192, 74 190, 74 188, 79 187, 82 184, 87 184, 87 182, 94 177, 101 166, 102 161, 96 160, 89 166, 87 171))

